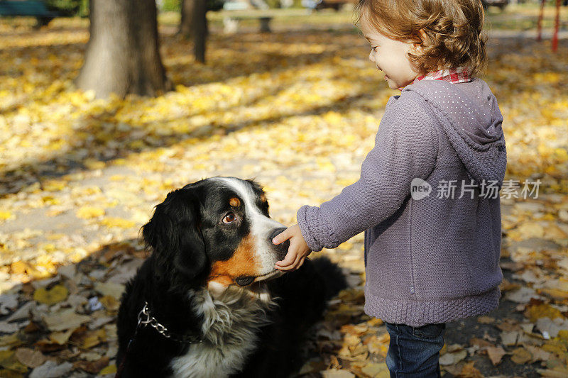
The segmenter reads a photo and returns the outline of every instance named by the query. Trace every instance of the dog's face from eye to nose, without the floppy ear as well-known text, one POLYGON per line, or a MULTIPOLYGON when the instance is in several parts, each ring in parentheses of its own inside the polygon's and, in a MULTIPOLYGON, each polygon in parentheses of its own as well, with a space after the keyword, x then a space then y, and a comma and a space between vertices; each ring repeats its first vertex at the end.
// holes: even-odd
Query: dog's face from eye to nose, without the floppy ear
POLYGON ((206 243, 209 241, 209 257, 213 257, 209 288, 220 292, 236 284, 255 290, 259 289, 256 282, 280 277, 283 272, 274 265, 285 256, 288 243, 273 245, 272 238, 285 226, 268 215, 262 189, 234 177, 210 180, 221 184, 214 201, 222 203, 216 204, 219 210, 215 213, 220 219, 214 229, 203 230, 206 243))

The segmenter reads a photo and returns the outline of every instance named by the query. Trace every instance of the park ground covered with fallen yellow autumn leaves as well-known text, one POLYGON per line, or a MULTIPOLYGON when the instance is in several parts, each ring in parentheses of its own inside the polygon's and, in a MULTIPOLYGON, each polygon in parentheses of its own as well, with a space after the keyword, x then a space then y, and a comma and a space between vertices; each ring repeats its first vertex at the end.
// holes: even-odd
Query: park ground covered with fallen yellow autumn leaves
MULTIPOLYGON (((168 191, 254 178, 273 218, 293 224, 358 179, 398 93, 349 23, 213 33, 207 65, 173 31, 160 28, 160 50, 175 91, 102 100, 72 85, 84 21, 0 23, 1 377, 111 376, 119 298, 146 257, 138 232, 168 191)), ((520 187, 502 198, 501 306, 449 323, 442 372, 567 377, 568 41, 551 55, 546 41, 490 36, 485 79, 506 120, 506 179, 520 187)), ((388 377, 388 333, 363 312, 362 241, 321 252, 350 288, 306 345, 306 377, 388 377)))

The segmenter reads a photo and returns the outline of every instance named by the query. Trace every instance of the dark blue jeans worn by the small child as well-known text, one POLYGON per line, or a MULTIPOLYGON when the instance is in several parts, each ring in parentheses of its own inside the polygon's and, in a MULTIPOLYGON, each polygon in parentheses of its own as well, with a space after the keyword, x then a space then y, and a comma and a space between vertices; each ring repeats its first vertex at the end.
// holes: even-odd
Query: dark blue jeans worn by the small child
POLYGON ((391 335, 386 365, 391 378, 440 377, 439 351, 444 346, 445 323, 410 327, 386 323, 391 335))

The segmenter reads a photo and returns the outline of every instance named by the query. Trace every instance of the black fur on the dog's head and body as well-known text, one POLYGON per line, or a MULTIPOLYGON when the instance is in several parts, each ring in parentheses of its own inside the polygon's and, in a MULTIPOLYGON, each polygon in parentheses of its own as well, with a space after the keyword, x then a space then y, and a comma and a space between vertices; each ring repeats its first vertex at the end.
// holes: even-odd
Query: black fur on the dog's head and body
MULTIPOLYGON (((250 198, 254 199, 254 206, 268 217, 268 203, 261 187, 251 180, 239 182, 253 193, 250 198)), ((234 206, 229 210, 234 211, 239 223, 219 223, 219 216, 226 213, 227 204, 234 197, 240 199, 239 192, 219 179, 205 179, 168 194, 156 206, 151 221, 143 226, 143 238, 152 254, 127 284, 121 301, 116 357, 121 377, 170 377, 175 374, 170 366, 173 358, 185 355, 190 348, 187 343, 165 338, 150 326, 136 330, 144 301, 148 301, 152 316, 172 333, 200 335, 203 318, 196 313, 188 293, 207 287, 214 262, 231 258, 251 232, 253 220, 247 218, 246 211, 234 206)), ((270 237, 278 234, 277 229, 270 237)), ((277 260, 282 260, 288 243, 273 248, 277 260)), ((241 286, 246 289, 250 279, 246 272, 244 277, 233 278, 234 282, 242 279, 241 286)), ((258 283, 252 285, 255 284, 258 283)), ((321 318, 327 299, 346 287, 339 267, 324 257, 306 259, 300 269, 260 284, 267 285, 272 298, 278 297, 278 306, 259 314, 259 323, 268 322, 257 330, 256 348, 246 356, 240 371, 232 372, 230 377, 274 378, 292 374, 302 363, 300 346, 306 331, 321 318)))

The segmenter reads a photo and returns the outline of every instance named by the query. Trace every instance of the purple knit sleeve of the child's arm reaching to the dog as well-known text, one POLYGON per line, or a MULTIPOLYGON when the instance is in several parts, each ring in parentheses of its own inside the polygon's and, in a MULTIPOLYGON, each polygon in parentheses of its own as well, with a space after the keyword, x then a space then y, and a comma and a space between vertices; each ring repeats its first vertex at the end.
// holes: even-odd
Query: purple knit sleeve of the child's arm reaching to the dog
POLYGON ((387 107, 361 177, 321 206, 302 206, 297 223, 312 251, 336 248, 393 215, 410 195, 410 182, 426 179, 437 156, 435 118, 423 99, 400 96, 387 107))

